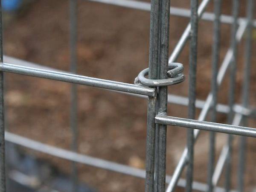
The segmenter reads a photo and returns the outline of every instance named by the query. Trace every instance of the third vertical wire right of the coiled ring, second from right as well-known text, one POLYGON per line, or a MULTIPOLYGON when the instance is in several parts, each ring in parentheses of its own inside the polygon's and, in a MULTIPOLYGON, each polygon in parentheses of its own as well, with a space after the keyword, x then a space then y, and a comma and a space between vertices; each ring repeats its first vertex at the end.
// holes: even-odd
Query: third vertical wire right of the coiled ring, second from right
MULTIPOLYGON (((230 63, 230 87, 229 87, 229 107, 230 113, 227 116, 227 123, 232 124, 234 111, 233 105, 235 104, 235 88, 236 88, 236 68, 237 68, 237 41, 236 41, 236 31, 238 29, 238 15, 239 15, 239 0, 233 0, 232 6, 232 15, 233 15, 233 25, 232 25, 232 34, 231 34, 231 47, 233 49, 233 59, 230 63)), ((228 135, 228 156, 226 161, 226 174, 225 174, 225 189, 230 191, 231 185, 231 154, 232 154, 232 140, 233 136, 228 135)))

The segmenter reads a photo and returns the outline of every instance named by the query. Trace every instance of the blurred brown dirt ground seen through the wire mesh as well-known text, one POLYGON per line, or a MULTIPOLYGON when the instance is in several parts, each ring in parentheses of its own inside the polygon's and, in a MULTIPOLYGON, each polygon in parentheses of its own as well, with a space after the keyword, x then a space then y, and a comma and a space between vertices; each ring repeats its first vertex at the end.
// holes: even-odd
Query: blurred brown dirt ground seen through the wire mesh
MULTIPOLYGON (((245 1, 241 2, 241 16, 245 1)), ((172 0, 172 6, 189 8, 187 0, 172 0)), ((230 14, 230 0, 223 12, 230 14)), ((208 11, 212 11, 212 4, 208 11)), ((102 79, 133 83, 148 66, 149 12, 79 0, 78 73, 102 79)), ((175 47, 188 18, 171 16, 170 52, 175 47)), ((212 23, 199 24, 197 98, 206 99, 211 81, 212 23)), ((230 26, 223 24, 221 61, 230 44, 230 26)), ((255 32, 254 32, 255 34, 255 32)), ((244 40, 244 39, 243 39, 244 40)), ((188 75, 187 45, 178 59, 188 75)), ((253 42, 253 50, 256 43, 253 42)), ((5 26, 6 55, 69 70, 69 9, 67 0, 38 0, 26 13, 5 26)), ((239 45, 236 95, 240 101, 244 66, 244 41, 239 45)), ((256 104, 256 56, 253 54, 250 102, 256 104)), ((43 143, 70 148, 70 84, 15 74, 6 74, 6 107, 10 131, 43 143)), ((219 91, 219 101, 227 103, 227 78, 219 91)), ((170 93, 187 95, 188 80, 169 87, 170 93)), ((79 152, 144 168, 146 100, 91 87, 78 86, 79 152)), ((197 111, 200 112, 199 110, 197 111)), ((186 107, 169 104, 168 115, 186 117, 186 107)), ((219 115, 218 122, 226 116, 219 115)), ((250 126, 256 127, 251 120, 250 126)), ((207 178, 208 133, 203 132, 195 148, 195 180, 207 178)), ((218 154, 226 143, 218 134, 218 154)), ((237 138, 237 137, 236 137, 237 138)), ((172 174, 186 143, 185 128, 168 128, 167 173, 172 174)), ((237 143, 234 140, 233 187, 236 187, 237 143)), ((26 149, 25 149, 26 150, 26 149)), ((70 162, 39 152, 30 154, 49 160, 66 173, 70 162)), ((216 155, 216 158, 218 155, 216 155)), ((255 139, 248 139, 245 184, 256 188, 255 139)), ((79 179, 99 192, 142 192, 144 180, 79 164, 79 179)), ((223 181, 220 181, 223 185, 223 181)), ((183 191, 183 189, 180 189, 183 191)))

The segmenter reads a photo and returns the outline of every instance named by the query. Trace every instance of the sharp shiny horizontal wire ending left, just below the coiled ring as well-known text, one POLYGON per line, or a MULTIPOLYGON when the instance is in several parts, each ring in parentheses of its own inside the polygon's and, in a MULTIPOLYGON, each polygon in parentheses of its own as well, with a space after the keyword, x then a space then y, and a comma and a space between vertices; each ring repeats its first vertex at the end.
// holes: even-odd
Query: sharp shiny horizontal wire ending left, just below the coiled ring
POLYGON ((97 79, 87 76, 79 76, 72 73, 44 70, 34 67, 24 67, 16 64, 1 63, 0 70, 9 73, 17 73, 26 76, 40 77, 129 93, 137 93, 147 96, 154 96, 155 94, 155 89, 150 87, 143 87, 135 84, 128 84, 105 79, 97 79))

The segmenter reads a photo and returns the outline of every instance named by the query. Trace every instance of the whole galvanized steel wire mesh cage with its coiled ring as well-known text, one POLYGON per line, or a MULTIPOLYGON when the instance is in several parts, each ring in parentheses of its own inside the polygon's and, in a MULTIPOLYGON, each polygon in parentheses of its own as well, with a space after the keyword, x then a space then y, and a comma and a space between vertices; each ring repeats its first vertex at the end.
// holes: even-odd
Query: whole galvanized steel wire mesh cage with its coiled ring
MULTIPOLYGON (((7 140, 11 143, 41 151, 46 154, 60 157, 73 162, 72 178, 73 191, 77 191, 77 166, 84 163, 90 166, 108 169, 114 172, 145 178, 146 192, 173 192, 176 186, 182 186, 186 192, 193 189, 198 191, 233 191, 230 189, 231 153, 233 134, 240 136, 239 170, 237 191, 244 190, 244 164, 246 137, 256 137, 256 129, 243 127, 247 125, 247 117, 255 117, 255 110, 250 107, 249 86, 251 66, 251 36, 256 20, 253 19, 255 2, 247 0, 247 17, 239 17, 239 0, 233 0, 232 16, 221 15, 221 0, 214 0, 214 13, 205 12, 210 0, 191 0, 191 10, 170 7, 169 0, 151 0, 151 4, 135 0, 91 0, 93 2, 107 3, 133 9, 150 11, 150 45, 148 68, 139 73, 135 84, 128 84, 105 79, 97 79, 76 75, 76 28, 77 28, 77 2, 70 0, 70 73, 44 67, 38 64, 21 61, 8 56, 3 57, 2 12, 0 18, 0 191, 6 191, 5 175, 5 145, 7 140), (169 56, 169 16, 177 15, 190 17, 190 22, 184 30, 172 54, 169 56), (205 101, 196 100, 196 69, 198 46, 198 20, 213 21, 214 35, 212 46, 212 82, 211 92, 205 101), (231 44, 221 66, 219 64, 220 27, 221 23, 232 25, 231 44), (245 67, 242 89, 242 103, 235 103, 236 61, 237 45, 244 33, 247 32, 245 46, 245 67), (189 97, 168 94, 169 85, 181 83, 184 80, 183 65, 175 63, 182 52, 184 45, 190 41, 189 57, 189 97), (221 85, 227 70, 230 69, 230 88, 228 105, 217 103, 218 87, 221 85), (72 131, 71 150, 40 143, 35 140, 21 137, 4 130, 4 97, 3 73, 16 73, 26 76, 40 77, 72 83, 70 128, 72 131), (146 139, 146 169, 137 169, 131 166, 103 160, 77 152, 77 89, 76 84, 114 90, 148 98, 147 139, 146 139), (168 103, 188 106, 188 118, 167 116, 168 103), (195 109, 200 108, 201 113, 195 120, 195 109), (211 121, 205 121, 209 111, 211 121), (216 123, 217 113, 227 113, 227 124, 216 123), (180 157, 173 175, 166 175, 166 131, 167 125, 187 128, 187 145, 180 157), (243 126, 241 126, 243 125, 243 126), (207 183, 193 180, 194 143, 201 130, 210 131, 209 137, 209 163, 207 183), (227 144, 222 148, 218 161, 215 162, 215 132, 229 134, 227 144), (216 163, 216 166, 214 167, 216 163), (186 178, 180 178, 184 168, 186 178), (218 187, 218 180, 226 167, 225 186, 218 187), (168 183, 166 187, 166 183, 168 183)), ((1 2, 1 1, 0 1, 1 2)), ((172 27, 172 26, 171 26, 172 27)))

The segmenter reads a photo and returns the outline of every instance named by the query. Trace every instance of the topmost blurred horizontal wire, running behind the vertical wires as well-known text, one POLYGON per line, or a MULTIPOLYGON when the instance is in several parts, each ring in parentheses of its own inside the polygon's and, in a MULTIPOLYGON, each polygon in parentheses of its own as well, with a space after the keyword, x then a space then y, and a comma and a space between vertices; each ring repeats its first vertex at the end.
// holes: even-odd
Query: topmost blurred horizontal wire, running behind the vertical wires
MULTIPOLYGON (((126 8, 132 8, 132 9, 138 9, 138 10, 143 10, 143 11, 150 11, 150 3, 148 2, 143 2, 143 1, 137 1, 137 0, 88 0, 92 2, 97 2, 97 3, 104 3, 108 5, 115 5, 115 6, 121 6, 121 7, 126 7, 126 8)), ((184 8, 179 8, 179 7, 170 7, 170 14, 174 16, 180 16, 180 17, 190 17, 190 10, 189 9, 184 9, 184 8)), ((202 15, 202 20, 207 20, 207 21, 213 21, 215 18, 215 15, 211 12, 205 12, 202 15)), ((245 17, 240 17, 239 22, 244 22, 246 20, 245 17)), ((233 17, 230 15, 221 15, 221 23, 227 23, 231 24, 233 23, 233 17)), ((253 26, 256 27, 256 20, 253 21, 253 26)))

